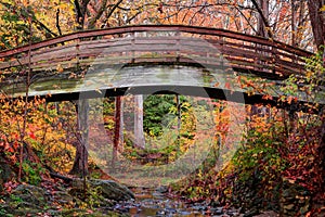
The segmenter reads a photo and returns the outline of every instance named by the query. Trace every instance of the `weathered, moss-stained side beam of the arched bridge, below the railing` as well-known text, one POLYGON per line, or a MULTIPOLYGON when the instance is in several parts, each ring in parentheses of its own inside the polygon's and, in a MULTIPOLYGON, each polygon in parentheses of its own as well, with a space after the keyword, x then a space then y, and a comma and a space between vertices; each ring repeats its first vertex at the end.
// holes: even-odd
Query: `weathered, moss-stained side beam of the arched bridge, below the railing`
MULTIPOLYGON (((28 95, 29 98, 39 95, 47 101, 74 101, 126 94, 183 94, 244 104, 262 103, 294 110, 301 107, 300 105, 306 102, 304 99, 299 99, 296 104, 278 104, 281 82, 272 84, 270 88, 264 88, 263 92, 251 92, 251 89, 240 87, 243 78, 247 80, 257 77, 227 67, 208 68, 190 64, 157 63, 114 67, 101 65, 89 67, 79 74, 65 71, 51 76, 36 76, 28 95)), ((274 81, 263 79, 263 82, 274 81)), ((26 86, 21 81, 3 86, 1 89, 8 94, 12 93, 12 97, 21 97, 25 95, 26 86)))

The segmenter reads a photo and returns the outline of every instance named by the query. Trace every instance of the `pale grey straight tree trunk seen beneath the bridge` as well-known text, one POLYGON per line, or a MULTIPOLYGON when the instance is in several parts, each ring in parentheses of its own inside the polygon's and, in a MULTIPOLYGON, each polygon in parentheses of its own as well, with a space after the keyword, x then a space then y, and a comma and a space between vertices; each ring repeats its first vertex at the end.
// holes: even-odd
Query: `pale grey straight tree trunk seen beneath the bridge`
POLYGON ((144 149, 143 95, 134 95, 134 145, 144 149))

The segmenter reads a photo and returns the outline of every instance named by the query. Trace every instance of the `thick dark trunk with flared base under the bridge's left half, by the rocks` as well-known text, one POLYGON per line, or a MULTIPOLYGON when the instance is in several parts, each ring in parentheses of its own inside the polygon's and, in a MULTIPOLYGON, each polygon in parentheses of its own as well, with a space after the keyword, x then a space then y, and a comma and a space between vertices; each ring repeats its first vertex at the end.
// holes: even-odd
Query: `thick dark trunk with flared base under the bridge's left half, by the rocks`
POLYGON ((72 170, 72 175, 88 175, 88 119, 89 119, 89 100, 78 100, 76 103, 77 111, 77 142, 76 156, 72 170))

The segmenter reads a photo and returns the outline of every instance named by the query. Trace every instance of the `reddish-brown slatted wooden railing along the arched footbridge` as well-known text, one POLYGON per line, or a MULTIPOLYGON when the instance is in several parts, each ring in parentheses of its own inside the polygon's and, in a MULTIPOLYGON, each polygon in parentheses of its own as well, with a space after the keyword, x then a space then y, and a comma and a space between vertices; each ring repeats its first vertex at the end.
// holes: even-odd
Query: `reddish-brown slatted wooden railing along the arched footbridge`
POLYGON ((2 51, 0 72, 22 74, 29 61, 34 73, 90 65, 181 62, 227 66, 278 79, 303 74, 303 58, 311 54, 278 41, 224 29, 142 25, 79 31, 2 51))

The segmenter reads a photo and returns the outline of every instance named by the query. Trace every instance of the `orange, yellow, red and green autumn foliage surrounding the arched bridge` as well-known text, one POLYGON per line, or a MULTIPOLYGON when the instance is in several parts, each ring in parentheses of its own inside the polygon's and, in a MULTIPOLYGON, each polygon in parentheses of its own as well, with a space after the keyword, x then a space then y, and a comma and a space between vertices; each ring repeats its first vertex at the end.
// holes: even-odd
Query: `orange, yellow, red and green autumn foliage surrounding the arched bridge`
MULTIPOLYGON (((268 36, 270 41, 282 41, 313 51, 315 54, 307 60, 298 60, 289 53, 281 54, 294 62, 306 61, 307 73, 281 80, 278 95, 264 94, 263 99, 274 100, 277 107, 266 104, 245 105, 244 113, 236 113, 231 103, 213 100, 208 103, 213 107, 212 113, 195 116, 195 106, 183 100, 182 106, 179 106, 183 113, 179 129, 181 137, 177 142, 159 150, 158 154, 146 153, 144 149, 134 150, 130 140, 122 142, 126 148, 123 154, 129 159, 140 161, 143 156, 155 154, 164 156, 164 159, 141 163, 160 165, 173 162, 179 154, 190 149, 193 138, 206 139, 205 133, 195 131, 193 123, 196 118, 210 115, 213 117, 213 128, 209 130, 216 132, 212 139, 217 142, 203 165, 188 179, 174 184, 173 189, 179 196, 185 196, 187 202, 208 201, 247 208, 256 203, 259 208, 278 210, 284 184, 290 183, 311 195, 311 206, 303 215, 313 216, 321 212, 320 203, 324 204, 325 201, 325 113, 324 106, 318 103, 324 99, 324 1, 316 0, 1 0, 0 50, 83 29, 136 24, 182 24, 268 36), (304 101, 299 104, 298 99, 301 98, 307 99, 308 103, 304 101), (236 124, 243 127, 239 142, 236 140, 238 132, 231 127, 234 122, 231 117, 234 115, 236 124), (226 155, 221 152, 222 149, 234 151, 226 155), (221 158, 231 161, 221 165, 222 169, 216 169, 221 158)), ((3 58, 0 61, 8 60, 3 58)), ((0 82, 11 74, 13 79, 21 79, 26 76, 27 68, 15 67, 13 71, 18 73, 0 72, 0 82)), ((56 71, 63 71, 60 64, 56 71)), ((248 76, 239 75, 235 84, 246 88, 246 94, 253 95, 272 89, 275 81, 248 79, 248 76)), ((231 89, 231 85, 225 82, 222 88, 231 89)), ((4 183, 4 191, 10 192, 20 181, 39 184, 49 178, 51 169, 67 174, 74 163, 76 146, 80 144, 76 104, 47 102, 47 99, 38 97, 28 101, 24 98, 12 99, 5 92, 0 94, 0 159, 22 175, 22 180, 12 178, 4 183)), ((158 138, 162 131, 162 117, 179 113, 172 100, 161 99, 153 97, 145 102, 152 108, 145 111, 144 132, 156 143, 166 141, 158 138)), ((113 101, 105 102, 102 107, 105 111, 105 132, 109 138, 117 126, 113 114, 115 107, 113 101)), ((92 120, 96 124, 96 119, 92 120)), ((177 120, 173 118, 168 124, 177 126, 177 120)), ((96 146, 95 143, 101 141, 96 137, 98 133, 94 133, 95 139, 91 140, 90 145, 101 152, 105 145, 96 146)), ((95 167, 93 162, 91 166, 95 167)), ((109 177, 101 170, 99 176, 109 177)))

